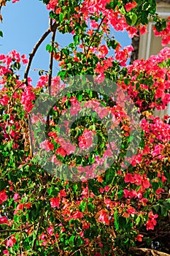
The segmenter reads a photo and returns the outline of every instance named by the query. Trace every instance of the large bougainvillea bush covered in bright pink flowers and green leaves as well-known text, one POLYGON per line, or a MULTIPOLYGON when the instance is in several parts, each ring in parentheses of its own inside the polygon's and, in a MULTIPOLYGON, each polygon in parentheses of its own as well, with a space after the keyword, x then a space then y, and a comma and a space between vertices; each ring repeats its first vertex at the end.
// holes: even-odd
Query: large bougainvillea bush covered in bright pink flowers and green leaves
POLYGON ((0 255, 168 255, 170 125, 153 113, 170 101, 170 48, 127 65, 133 48, 114 35, 152 21, 166 46, 170 21, 155 0, 42 4, 50 27, 29 58, 0 55, 0 255), (32 86, 48 34, 49 71, 32 86))

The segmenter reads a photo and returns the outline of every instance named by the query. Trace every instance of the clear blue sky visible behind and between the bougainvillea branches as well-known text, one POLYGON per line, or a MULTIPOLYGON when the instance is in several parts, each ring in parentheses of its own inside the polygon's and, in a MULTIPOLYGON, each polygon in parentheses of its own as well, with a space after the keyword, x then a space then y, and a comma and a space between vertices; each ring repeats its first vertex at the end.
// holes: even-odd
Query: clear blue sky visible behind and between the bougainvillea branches
MULTIPOLYGON (((1 8, 3 23, 0 23, 0 30, 3 31, 4 37, 0 37, 0 53, 7 54, 11 50, 17 50, 20 54, 31 53, 34 45, 42 37, 42 34, 48 28, 48 11, 45 4, 39 0, 20 0, 15 4, 7 2, 6 7, 1 8)), ((131 39, 128 34, 119 32, 115 34, 117 41, 121 45, 130 45, 131 39)), ((69 34, 56 34, 55 40, 62 46, 71 42, 72 36, 69 34)), ((31 65, 29 76, 33 78, 33 85, 39 75, 37 71, 32 69, 48 70, 49 53, 45 50, 46 45, 50 43, 50 36, 40 46, 36 52, 34 61, 31 65)), ((20 70, 23 77, 24 69, 20 70)), ((55 61, 53 75, 58 72, 58 64, 55 61)))

